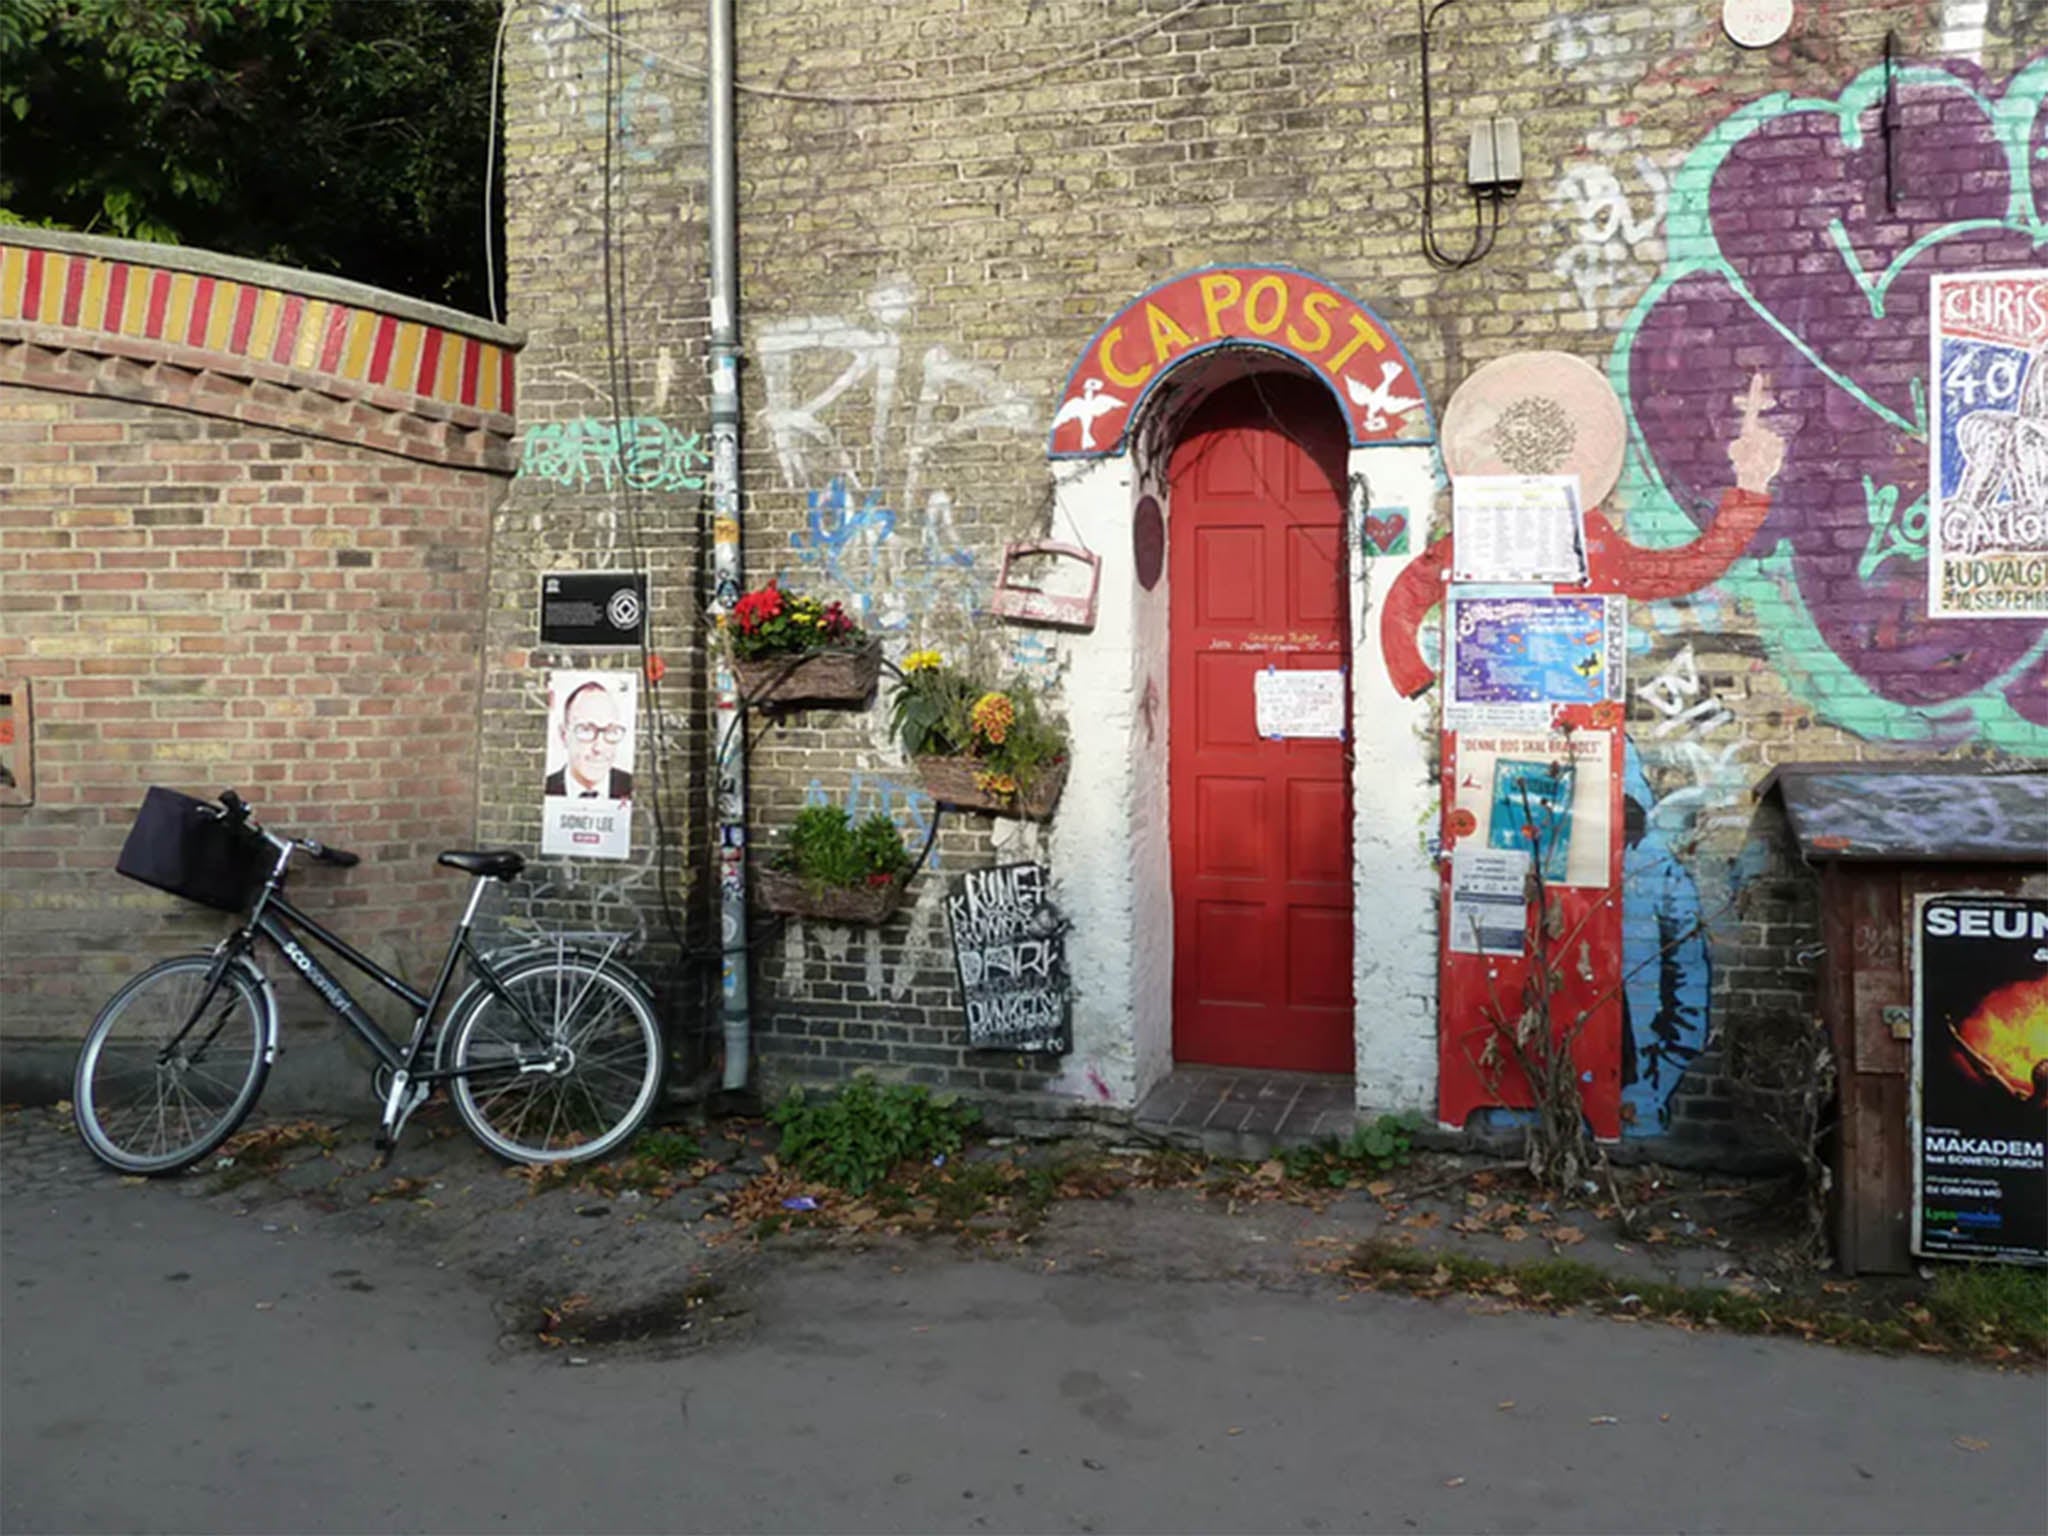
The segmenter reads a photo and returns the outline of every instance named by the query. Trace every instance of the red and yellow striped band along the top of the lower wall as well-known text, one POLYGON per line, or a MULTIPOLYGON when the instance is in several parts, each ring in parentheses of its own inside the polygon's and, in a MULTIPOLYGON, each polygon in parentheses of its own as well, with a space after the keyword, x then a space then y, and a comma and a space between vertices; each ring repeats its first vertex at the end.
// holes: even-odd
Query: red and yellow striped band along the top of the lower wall
POLYGON ((250 358, 512 414, 512 350, 281 287, 0 242, 0 322, 250 358))

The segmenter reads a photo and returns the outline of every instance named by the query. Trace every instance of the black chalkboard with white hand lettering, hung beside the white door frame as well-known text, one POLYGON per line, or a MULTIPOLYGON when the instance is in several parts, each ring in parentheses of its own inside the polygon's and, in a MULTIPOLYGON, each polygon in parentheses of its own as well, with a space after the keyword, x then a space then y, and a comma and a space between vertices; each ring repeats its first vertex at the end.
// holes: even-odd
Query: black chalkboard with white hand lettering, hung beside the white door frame
POLYGON ((973 1051, 1073 1049, 1067 1032, 1067 924, 1044 864, 969 870, 946 893, 952 961, 973 1051))

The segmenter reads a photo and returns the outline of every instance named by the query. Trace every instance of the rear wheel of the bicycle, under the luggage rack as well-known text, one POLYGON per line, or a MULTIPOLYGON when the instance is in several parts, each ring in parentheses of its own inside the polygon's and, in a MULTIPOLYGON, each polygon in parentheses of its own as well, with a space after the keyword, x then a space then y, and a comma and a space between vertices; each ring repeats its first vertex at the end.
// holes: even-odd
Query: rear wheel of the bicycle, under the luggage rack
POLYGON ((662 1092, 662 1026, 608 965, 537 961, 483 991, 449 1040, 455 1112, 514 1163, 578 1163, 623 1145, 662 1092))

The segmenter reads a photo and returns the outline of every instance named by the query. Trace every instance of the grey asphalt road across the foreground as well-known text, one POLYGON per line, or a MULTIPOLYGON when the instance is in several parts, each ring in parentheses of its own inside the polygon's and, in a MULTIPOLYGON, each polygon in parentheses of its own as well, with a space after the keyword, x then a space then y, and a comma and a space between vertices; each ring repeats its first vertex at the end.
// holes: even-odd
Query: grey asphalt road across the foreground
POLYGON ((2038 1374, 946 1251, 569 1356, 317 1221, 0 1196, 6 1532, 2048 1526, 2038 1374))

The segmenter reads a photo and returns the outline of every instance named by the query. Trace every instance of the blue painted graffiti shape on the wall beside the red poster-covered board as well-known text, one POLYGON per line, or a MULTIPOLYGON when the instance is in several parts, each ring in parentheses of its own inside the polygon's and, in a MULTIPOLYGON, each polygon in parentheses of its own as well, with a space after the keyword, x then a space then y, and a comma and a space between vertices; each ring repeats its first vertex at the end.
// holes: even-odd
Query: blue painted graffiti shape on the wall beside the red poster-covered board
POLYGON ((1714 971, 1700 887, 1651 819, 1649 774, 1628 743, 1622 774, 1622 1133, 1669 1128, 1671 1094, 1706 1049, 1714 971))

